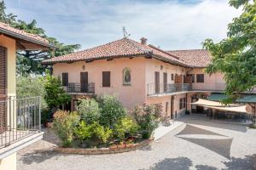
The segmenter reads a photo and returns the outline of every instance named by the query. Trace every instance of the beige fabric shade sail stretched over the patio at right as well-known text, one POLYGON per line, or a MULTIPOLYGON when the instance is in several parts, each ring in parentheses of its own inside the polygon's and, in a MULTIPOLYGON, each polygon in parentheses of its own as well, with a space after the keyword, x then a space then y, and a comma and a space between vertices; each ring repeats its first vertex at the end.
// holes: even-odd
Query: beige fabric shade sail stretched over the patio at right
POLYGON ((198 101, 192 103, 193 105, 201 105, 207 108, 215 109, 218 111, 231 111, 231 112, 240 112, 240 113, 249 113, 247 112, 246 105, 228 105, 225 106, 219 102, 216 101, 210 101, 207 99, 198 99, 198 101))

